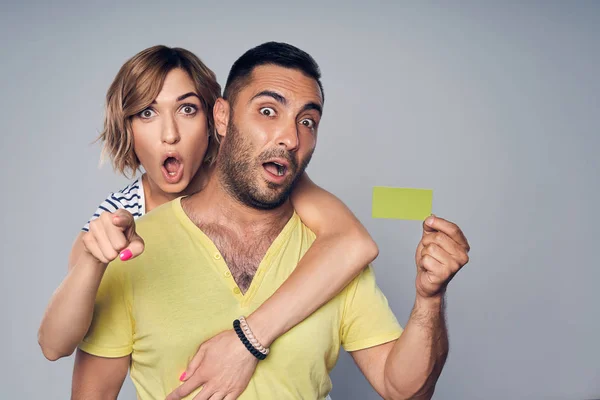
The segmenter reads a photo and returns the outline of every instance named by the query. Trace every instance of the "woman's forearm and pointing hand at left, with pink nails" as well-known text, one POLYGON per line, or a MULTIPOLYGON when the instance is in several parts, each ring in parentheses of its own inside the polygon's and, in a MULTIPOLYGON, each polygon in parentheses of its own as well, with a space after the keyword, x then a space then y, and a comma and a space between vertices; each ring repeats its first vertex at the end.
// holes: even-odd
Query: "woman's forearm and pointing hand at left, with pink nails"
POLYGON ((52 295, 38 330, 38 343, 48 360, 71 355, 81 343, 92 322, 104 271, 125 248, 131 259, 142 253, 144 244, 135 233, 133 216, 123 209, 103 213, 90 223, 89 232, 77 236, 69 273, 52 295))

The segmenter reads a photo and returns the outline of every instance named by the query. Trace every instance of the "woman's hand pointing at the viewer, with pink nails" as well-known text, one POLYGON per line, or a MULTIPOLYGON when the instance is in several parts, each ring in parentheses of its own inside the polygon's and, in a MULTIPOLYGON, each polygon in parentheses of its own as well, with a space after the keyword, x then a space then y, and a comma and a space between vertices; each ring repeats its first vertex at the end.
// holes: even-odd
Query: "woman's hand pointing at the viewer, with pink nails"
POLYGON ((124 209, 114 214, 104 212, 91 221, 89 231, 83 235, 83 245, 89 255, 105 265, 117 256, 127 261, 144 251, 144 240, 135 232, 133 215, 124 209))

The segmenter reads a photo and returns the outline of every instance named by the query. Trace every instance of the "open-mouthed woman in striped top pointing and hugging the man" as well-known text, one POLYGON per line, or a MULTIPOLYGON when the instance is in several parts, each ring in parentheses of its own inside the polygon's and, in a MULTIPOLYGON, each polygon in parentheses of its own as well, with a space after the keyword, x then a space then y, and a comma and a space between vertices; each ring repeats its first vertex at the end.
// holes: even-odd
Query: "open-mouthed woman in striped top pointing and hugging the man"
MULTIPOLYGON (((143 251, 143 242, 133 236, 125 247, 114 240, 128 226, 127 215, 118 210, 138 218, 204 187, 218 152, 212 108, 219 96, 215 74, 184 49, 151 47, 121 67, 107 93, 100 139, 116 170, 135 175, 142 167, 145 172, 111 193, 76 238, 69 273, 39 329, 48 359, 72 354, 85 336, 107 264, 143 251)), ((277 337, 333 298, 377 256, 375 243, 353 214, 308 176, 291 201, 317 239, 288 280, 248 317, 258 331, 268 321, 277 337)))

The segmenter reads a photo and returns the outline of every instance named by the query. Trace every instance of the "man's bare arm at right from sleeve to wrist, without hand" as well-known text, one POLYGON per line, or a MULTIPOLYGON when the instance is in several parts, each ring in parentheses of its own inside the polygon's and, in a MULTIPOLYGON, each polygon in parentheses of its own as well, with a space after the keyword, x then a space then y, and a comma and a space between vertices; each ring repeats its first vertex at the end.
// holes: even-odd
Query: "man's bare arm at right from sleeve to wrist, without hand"
POLYGON ((417 301, 400 338, 350 354, 384 399, 430 399, 448 354, 443 300, 417 301))

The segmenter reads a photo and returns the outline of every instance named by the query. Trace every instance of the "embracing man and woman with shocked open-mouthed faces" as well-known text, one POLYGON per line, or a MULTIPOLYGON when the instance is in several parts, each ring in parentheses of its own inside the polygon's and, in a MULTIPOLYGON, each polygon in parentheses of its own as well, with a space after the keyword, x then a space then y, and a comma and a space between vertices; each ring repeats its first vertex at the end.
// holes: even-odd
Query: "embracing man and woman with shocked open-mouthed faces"
POLYGON ((468 261, 460 229, 424 222, 402 330, 364 268, 369 242, 341 231, 338 251, 332 228, 309 229, 323 214, 361 232, 303 174, 323 112, 314 60, 265 43, 234 63, 217 98, 189 72, 210 70, 181 54, 167 50, 161 79, 130 82, 150 98, 122 95, 135 68, 109 90, 108 111, 114 101, 124 119, 105 129, 105 148, 121 171, 146 173, 84 228, 40 327, 50 359, 85 336, 73 398, 116 398, 130 369, 142 399, 323 399, 340 345, 382 397, 431 397, 448 350, 445 287, 468 261), (311 210, 313 199, 329 207, 311 210), (137 222, 125 211, 149 209, 137 222))

